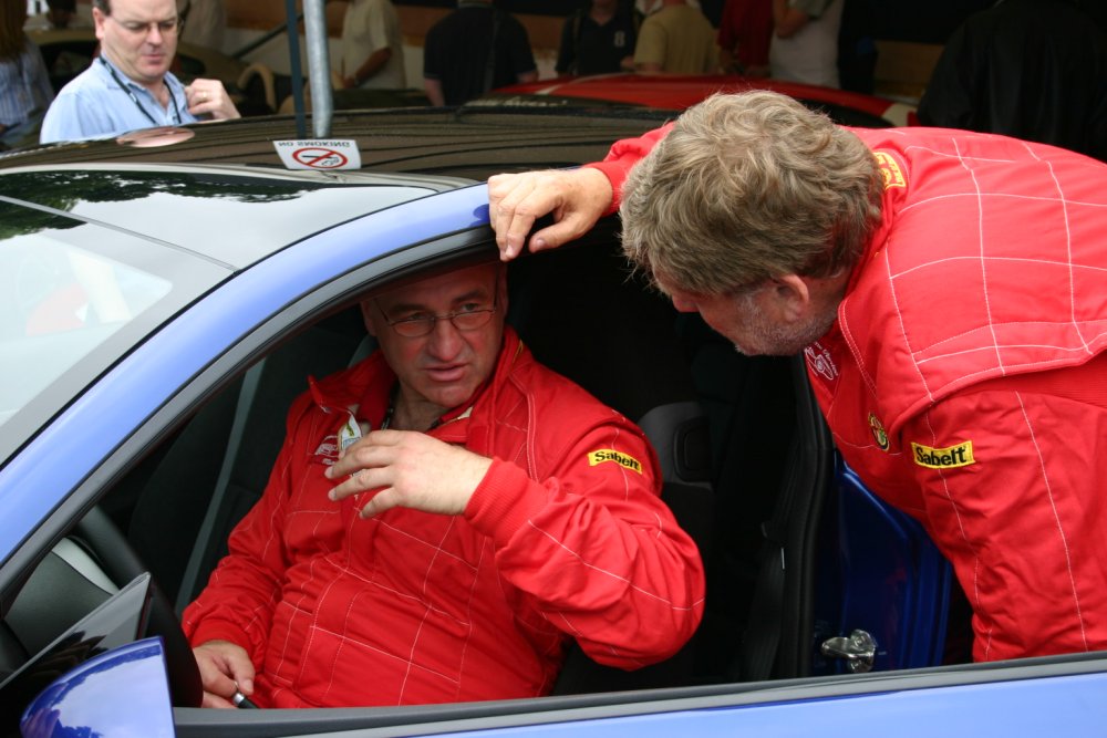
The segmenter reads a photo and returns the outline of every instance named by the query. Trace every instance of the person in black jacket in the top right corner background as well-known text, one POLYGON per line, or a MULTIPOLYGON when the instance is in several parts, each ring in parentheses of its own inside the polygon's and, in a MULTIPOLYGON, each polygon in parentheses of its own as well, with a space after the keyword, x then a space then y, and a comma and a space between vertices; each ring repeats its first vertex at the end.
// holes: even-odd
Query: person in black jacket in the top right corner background
POLYGON ((1103 8, 1087 0, 1003 0, 971 15, 934 66, 919 121, 1038 141, 1107 162, 1103 8))

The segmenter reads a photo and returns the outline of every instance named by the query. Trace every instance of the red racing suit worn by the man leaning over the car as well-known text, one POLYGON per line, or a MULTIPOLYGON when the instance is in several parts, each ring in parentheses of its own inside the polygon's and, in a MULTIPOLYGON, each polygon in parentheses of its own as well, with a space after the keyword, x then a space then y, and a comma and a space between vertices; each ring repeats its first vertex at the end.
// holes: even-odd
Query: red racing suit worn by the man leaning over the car
MULTIPOLYGON (((618 194, 665 131, 590 166, 618 194)), ((883 175, 882 222, 805 352, 837 447, 952 562, 974 659, 1107 648, 1107 166, 852 132, 883 175)))

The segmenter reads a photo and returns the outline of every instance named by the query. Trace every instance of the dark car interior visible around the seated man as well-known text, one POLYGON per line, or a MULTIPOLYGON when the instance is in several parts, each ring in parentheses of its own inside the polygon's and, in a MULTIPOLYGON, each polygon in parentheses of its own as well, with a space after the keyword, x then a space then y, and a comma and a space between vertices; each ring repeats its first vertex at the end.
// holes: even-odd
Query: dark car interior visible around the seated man
MULTIPOLYGON (((466 258, 496 258, 490 231, 483 238, 466 258)), ((622 672, 570 648, 554 694, 809 674, 815 538, 832 449, 801 357, 745 357, 699 315, 677 313, 628 268, 613 218, 576 247, 513 262, 509 291, 507 320, 539 361, 648 433, 664 467, 663 499, 707 571, 704 620, 681 653, 622 672)), ((306 377, 348 366, 372 347, 356 300, 346 298, 227 377, 135 459, 7 610, 0 682, 148 571, 147 630, 166 641, 174 703, 198 705, 198 674, 177 616, 265 489, 284 412, 306 377)))

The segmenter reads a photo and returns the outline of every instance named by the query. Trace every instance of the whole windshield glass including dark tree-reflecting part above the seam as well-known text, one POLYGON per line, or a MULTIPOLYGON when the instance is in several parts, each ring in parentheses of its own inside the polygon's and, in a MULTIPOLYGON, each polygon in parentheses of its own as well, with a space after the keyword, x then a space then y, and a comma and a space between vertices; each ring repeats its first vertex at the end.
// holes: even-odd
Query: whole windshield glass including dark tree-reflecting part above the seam
POLYGON ((0 464, 235 272, 435 191, 198 167, 0 176, 0 464))

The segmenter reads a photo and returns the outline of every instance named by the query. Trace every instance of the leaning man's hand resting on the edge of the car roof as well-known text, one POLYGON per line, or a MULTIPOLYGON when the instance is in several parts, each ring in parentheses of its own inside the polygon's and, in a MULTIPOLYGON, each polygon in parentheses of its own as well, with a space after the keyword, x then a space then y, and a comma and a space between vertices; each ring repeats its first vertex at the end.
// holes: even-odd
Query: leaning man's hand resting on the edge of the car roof
POLYGON ((611 183, 599 169, 548 169, 499 174, 488 179, 488 217, 499 258, 509 261, 527 245, 535 220, 554 214, 554 225, 530 237, 531 251, 556 249, 580 238, 611 205, 611 183))

